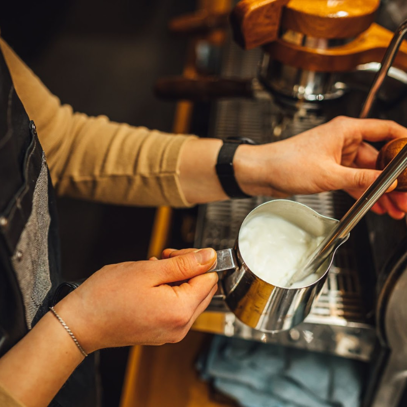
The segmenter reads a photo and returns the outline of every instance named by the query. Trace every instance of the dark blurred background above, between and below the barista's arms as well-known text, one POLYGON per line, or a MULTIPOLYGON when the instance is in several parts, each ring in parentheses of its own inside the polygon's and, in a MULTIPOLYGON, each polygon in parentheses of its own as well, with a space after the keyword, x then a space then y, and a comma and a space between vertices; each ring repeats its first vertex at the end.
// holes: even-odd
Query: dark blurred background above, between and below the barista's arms
MULTIPOLYGON (((171 131, 175 104, 154 81, 180 74, 186 39, 168 34, 194 0, 0 2, 2 36, 62 103, 90 115, 171 131)), ((64 278, 147 256, 155 209, 59 199, 64 278)), ((128 348, 101 352, 104 405, 119 404, 128 348)))

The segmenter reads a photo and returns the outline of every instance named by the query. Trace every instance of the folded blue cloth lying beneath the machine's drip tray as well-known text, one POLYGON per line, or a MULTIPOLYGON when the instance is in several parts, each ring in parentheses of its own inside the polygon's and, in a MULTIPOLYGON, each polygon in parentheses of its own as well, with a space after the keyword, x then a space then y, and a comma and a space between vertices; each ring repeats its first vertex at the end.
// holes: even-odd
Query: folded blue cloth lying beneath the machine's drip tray
POLYGON ((203 379, 244 407, 356 407, 362 362, 215 336, 198 361, 203 379))

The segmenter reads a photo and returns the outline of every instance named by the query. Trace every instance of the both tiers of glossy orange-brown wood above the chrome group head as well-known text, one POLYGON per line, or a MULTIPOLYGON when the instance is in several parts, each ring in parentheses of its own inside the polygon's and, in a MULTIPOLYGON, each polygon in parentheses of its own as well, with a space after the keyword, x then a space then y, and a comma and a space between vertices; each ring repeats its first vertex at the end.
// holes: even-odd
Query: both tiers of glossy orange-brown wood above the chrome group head
MULTIPOLYGON (((338 72, 380 62, 393 33, 374 23, 379 0, 241 0, 230 15, 235 41, 245 49, 263 46, 283 64, 338 72), (317 39, 348 39, 326 48, 286 41, 290 30, 317 39)), ((407 42, 394 66, 407 71, 407 42)))

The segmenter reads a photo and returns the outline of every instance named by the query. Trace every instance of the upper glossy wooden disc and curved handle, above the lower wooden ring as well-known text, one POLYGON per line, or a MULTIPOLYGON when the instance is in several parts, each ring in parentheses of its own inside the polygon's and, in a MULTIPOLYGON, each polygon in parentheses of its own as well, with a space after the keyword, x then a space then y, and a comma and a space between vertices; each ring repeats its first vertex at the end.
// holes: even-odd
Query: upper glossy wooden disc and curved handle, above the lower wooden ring
POLYGON ((379 0, 241 0, 232 11, 236 41, 255 48, 278 38, 280 28, 315 38, 352 38, 373 22, 379 0))

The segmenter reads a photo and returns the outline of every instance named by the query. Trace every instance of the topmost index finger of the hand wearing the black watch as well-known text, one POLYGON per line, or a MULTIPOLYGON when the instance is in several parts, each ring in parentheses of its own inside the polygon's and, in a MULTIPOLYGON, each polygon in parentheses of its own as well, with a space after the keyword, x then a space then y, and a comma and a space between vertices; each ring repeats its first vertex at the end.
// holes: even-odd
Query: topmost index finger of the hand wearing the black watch
POLYGON ((393 140, 407 137, 407 129, 391 120, 348 119, 349 125, 367 141, 393 140))

